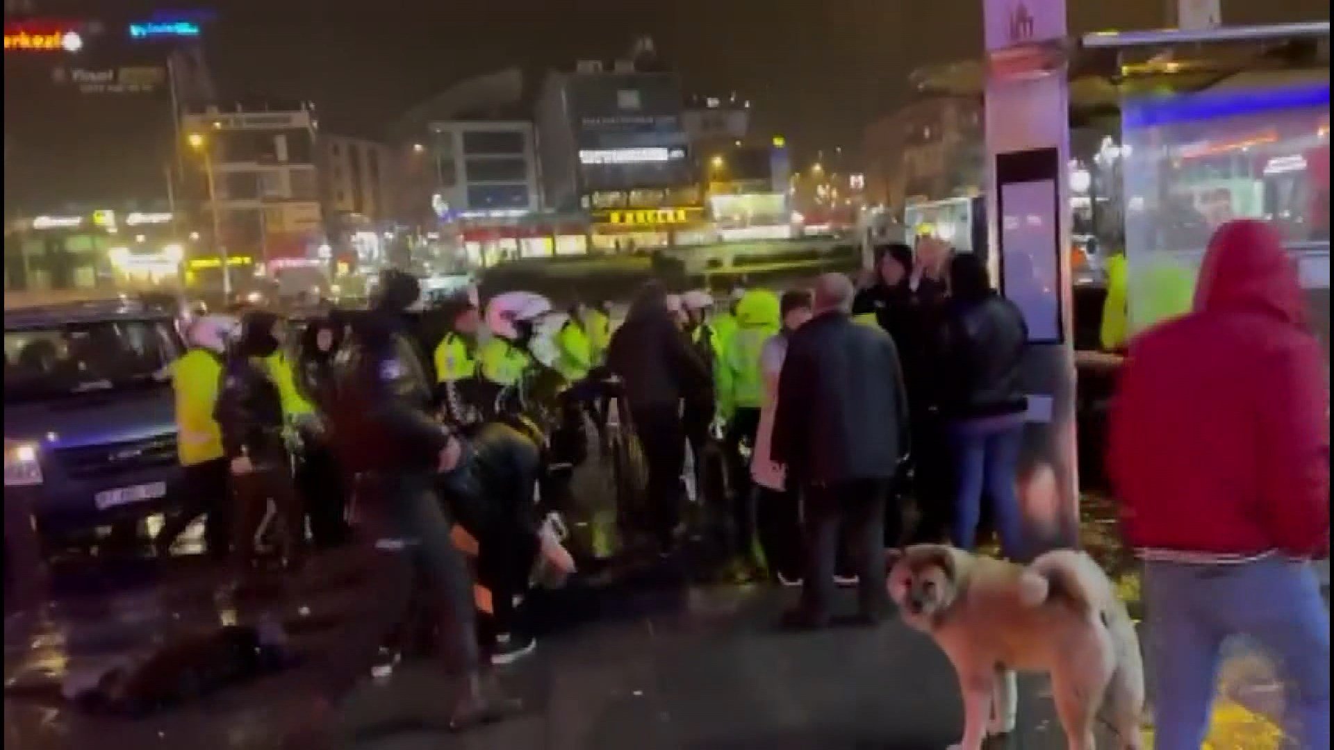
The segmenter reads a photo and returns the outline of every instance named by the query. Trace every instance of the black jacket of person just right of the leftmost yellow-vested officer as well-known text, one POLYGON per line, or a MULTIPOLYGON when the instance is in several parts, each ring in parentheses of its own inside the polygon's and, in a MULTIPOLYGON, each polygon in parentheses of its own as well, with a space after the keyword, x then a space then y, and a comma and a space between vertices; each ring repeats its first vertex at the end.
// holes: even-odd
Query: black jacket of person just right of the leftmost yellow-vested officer
POLYGON ((232 354, 221 378, 213 419, 221 428, 227 458, 248 455, 260 463, 281 455, 283 399, 264 367, 243 354, 232 354))

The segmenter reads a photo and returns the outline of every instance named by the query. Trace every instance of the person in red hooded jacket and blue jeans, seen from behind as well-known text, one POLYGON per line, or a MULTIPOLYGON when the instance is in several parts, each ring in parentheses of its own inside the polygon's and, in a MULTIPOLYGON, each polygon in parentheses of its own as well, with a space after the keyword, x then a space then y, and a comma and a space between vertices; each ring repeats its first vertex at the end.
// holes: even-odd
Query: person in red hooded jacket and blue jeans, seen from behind
POLYGON ((1310 560, 1329 552, 1329 390, 1278 236, 1231 222, 1194 310, 1130 343, 1109 472, 1145 559, 1158 750, 1205 739, 1226 637, 1286 671, 1287 727, 1330 746, 1330 622, 1310 560))

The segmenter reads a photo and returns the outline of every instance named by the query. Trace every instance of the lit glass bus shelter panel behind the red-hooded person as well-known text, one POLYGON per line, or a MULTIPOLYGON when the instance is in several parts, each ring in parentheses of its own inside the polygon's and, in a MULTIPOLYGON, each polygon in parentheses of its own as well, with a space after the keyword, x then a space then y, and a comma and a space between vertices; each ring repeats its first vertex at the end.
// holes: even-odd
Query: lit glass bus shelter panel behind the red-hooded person
MULTIPOLYGON (((1321 76, 1323 77, 1323 75, 1321 76)), ((1329 80, 1145 96, 1122 107, 1133 331, 1189 308, 1210 236, 1269 223, 1329 335, 1329 80)))

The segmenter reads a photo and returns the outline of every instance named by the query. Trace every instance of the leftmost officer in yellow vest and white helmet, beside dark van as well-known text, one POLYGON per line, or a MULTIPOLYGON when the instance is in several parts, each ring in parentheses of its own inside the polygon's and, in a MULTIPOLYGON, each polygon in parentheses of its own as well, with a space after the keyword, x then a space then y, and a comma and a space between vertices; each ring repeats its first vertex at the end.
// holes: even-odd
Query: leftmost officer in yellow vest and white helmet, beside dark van
POLYGON ((235 318, 224 315, 193 319, 185 331, 189 348, 168 368, 176 392, 176 452, 184 474, 179 495, 187 504, 163 523, 153 540, 159 555, 169 552, 180 532, 205 515, 204 544, 208 555, 227 558, 229 471, 223 455, 223 432, 213 419, 213 404, 223 376, 227 340, 236 326, 235 318))

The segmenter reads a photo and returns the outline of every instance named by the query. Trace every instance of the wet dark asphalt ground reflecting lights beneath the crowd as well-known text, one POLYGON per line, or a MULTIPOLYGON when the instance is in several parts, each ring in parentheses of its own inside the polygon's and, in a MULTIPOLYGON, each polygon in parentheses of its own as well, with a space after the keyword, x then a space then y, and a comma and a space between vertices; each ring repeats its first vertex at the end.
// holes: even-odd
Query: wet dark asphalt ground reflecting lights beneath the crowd
MULTIPOLYGON (((1086 502, 1085 546, 1138 613, 1138 574, 1115 542, 1109 510, 1086 502)), ((896 621, 780 631, 775 623, 794 593, 692 583, 696 562, 686 554, 534 602, 546 613, 538 653, 500 670, 526 702, 511 721, 448 735, 440 727, 447 686, 430 662, 408 662, 362 685, 329 723, 342 746, 358 750, 939 749, 958 739, 954 674, 926 638, 896 621)), ((343 629, 375 606, 375 582, 362 575, 355 550, 320 555, 241 602, 219 594, 221 581, 197 556, 64 566, 57 598, 43 613, 5 621, 5 746, 279 747, 312 715, 319 666, 340 657, 343 629), (260 617, 285 625, 300 666, 143 719, 76 710, 59 694, 71 673, 260 617)), ((851 594, 844 597, 851 613, 851 594)), ((992 747, 1062 747, 1046 681, 1022 679, 1021 687, 1021 730, 992 747)), ((1257 711, 1278 709, 1275 687, 1281 703, 1271 665, 1235 649, 1221 685, 1235 699, 1215 711, 1213 747, 1274 747, 1274 725, 1257 711)))

